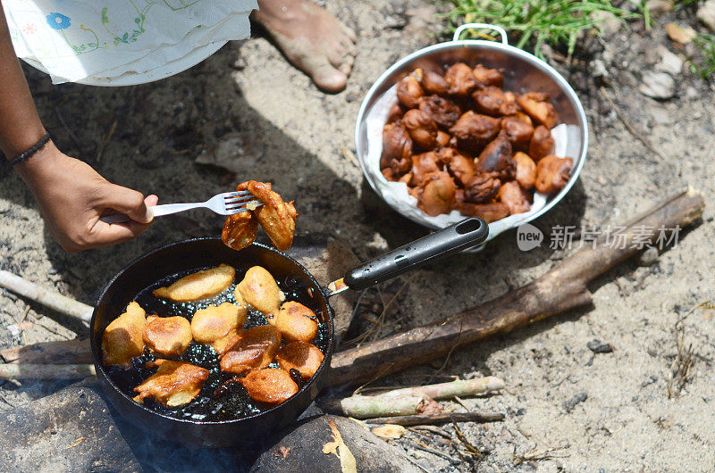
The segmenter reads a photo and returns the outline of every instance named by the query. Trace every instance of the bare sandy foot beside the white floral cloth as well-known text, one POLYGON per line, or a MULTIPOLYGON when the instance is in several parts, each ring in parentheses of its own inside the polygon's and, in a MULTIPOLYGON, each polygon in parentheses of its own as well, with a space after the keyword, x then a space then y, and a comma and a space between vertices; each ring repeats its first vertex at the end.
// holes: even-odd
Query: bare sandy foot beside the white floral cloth
POLYGON ((345 88, 355 59, 355 33, 307 0, 258 0, 251 18, 325 92, 345 88))

